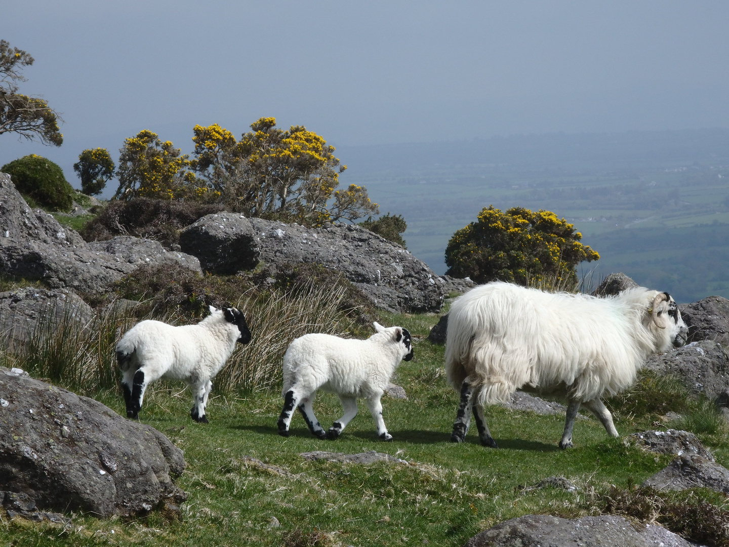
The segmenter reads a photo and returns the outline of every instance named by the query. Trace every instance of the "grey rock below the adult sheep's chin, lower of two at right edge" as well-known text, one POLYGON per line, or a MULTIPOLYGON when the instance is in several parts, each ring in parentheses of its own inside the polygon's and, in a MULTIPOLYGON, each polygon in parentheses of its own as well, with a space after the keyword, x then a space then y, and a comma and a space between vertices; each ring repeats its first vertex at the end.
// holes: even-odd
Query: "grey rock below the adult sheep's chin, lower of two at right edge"
POLYGON ((710 340, 652 355, 644 368, 658 374, 674 374, 696 395, 703 394, 711 400, 729 388, 729 357, 720 344, 710 340))

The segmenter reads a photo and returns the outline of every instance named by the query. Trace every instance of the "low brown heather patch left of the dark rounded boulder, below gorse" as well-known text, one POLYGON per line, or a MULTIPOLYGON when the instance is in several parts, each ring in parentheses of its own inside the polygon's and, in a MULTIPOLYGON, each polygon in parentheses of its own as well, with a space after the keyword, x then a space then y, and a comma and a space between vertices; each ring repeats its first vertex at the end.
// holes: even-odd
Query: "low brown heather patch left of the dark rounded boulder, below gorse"
POLYGON ((179 230, 206 214, 222 211, 219 204, 134 198, 112 201, 81 231, 86 241, 104 241, 114 236, 157 239, 165 247, 179 240, 179 230))

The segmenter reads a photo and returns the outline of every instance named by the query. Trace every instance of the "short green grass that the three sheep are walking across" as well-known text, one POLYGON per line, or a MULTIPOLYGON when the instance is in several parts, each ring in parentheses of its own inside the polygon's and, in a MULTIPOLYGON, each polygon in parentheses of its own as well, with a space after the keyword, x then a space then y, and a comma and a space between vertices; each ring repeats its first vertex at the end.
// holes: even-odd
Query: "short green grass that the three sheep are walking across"
MULTIPOLYGON (((432 545, 460 546, 483 529, 528 513, 567 517, 608 510, 629 513, 629 508, 642 505, 610 505, 609 500, 633 492, 632 485, 670 460, 607 438, 594 419, 577 422, 574 449, 560 451, 556 443, 564 416, 499 407, 489 408, 488 422, 501 448, 483 448, 475 432, 469 432, 466 442, 452 444, 448 439, 457 395, 445 385, 443 346, 425 339, 437 317, 385 314, 378 320, 408 327, 416 340, 415 359, 402 362, 394 379, 405 388, 408 400, 383 398, 392 443, 377 440, 363 404, 337 441, 313 438, 299 415, 292 422, 292 435, 282 438, 276 434, 281 411, 276 389, 214 393, 208 403, 210 423, 197 424, 188 416, 189 392, 178 385, 153 384, 140 418, 184 450, 187 470, 177 484, 188 493, 188 500, 181 518, 167 521, 152 513, 125 521, 76 514, 73 526, 66 529, 3 519, 0 545, 400 546, 423 545, 427 540, 432 545), (375 450, 409 463, 353 465, 300 457, 314 450, 375 450), (523 489, 549 476, 569 478, 580 489, 523 489), (273 517, 280 526, 272 525, 273 517)), ((94 396, 117 412, 124 410, 122 398, 114 392, 98 391, 94 396)), ((338 400, 328 393, 317 397, 314 408, 322 424, 340 416, 338 400)), ((622 435, 655 428, 650 412, 617 414, 622 435)), ((729 463, 725 435, 698 435, 714 446, 718 462, 729 463)), ((685 514, 705 507, 718 515, 718 521, 724 518, 723 494, 698 490, 681 495, 641 503, 658 504, 657 514, 666 513, 667 525, 678 529, 670 515, 680 505, 685 514)), ((697 534, 706 530, 702 526, 697 534)), ((719 538, 717 545, 726 544, 720 543, 720 534, 714 537, 719 538)))

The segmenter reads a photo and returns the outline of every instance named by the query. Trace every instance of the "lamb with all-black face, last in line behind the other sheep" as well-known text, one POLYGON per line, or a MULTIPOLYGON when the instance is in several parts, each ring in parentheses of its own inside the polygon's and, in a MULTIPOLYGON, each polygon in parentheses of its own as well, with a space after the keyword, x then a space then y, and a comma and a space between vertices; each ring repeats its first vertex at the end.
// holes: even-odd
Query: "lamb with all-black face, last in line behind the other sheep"
POLYGON ((210 315, 197 325, 173 327, 152 320, 137 323, 117 343, 127 417, 138 417, 147 385, 165 378, 187 382, 194 400, 190 417, 207 424, 205 406, 213 387, 211 378, 225 365, 236 342, 250 341, 246 318, 235 308, 210 306, 210 315))

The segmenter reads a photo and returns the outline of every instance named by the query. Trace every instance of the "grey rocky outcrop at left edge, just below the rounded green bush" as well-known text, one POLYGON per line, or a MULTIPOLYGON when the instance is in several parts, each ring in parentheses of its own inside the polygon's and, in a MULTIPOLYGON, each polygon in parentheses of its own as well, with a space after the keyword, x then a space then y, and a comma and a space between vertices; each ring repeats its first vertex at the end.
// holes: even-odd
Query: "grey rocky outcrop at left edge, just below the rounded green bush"
POLYGON ((0 173, 0 273, 98 292, 139 265, 172 261, 200 271, 197 258, 165 251, 158 241, 118 237, 86 243, 52 215, 28 207, 10 176, 0 173))

